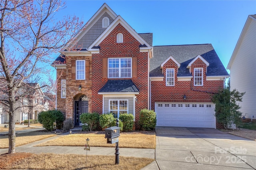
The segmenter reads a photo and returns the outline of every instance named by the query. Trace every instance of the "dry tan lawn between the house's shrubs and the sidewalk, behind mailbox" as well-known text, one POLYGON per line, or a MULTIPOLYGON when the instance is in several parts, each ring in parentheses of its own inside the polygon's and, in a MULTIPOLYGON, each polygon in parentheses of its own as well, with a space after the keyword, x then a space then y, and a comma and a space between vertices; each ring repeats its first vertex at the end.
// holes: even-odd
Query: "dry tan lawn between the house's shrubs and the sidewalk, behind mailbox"
MULTIPOLYGON (((116 147, 115 144, 107 144, 105 134, 69 134, 60 138, 38 144, 36 146, 84 146, 86 139, 90 139, 90 146, 116 147)), ((120 134, 120 148, 156 148, 156 135, 151 134, 120 134)))

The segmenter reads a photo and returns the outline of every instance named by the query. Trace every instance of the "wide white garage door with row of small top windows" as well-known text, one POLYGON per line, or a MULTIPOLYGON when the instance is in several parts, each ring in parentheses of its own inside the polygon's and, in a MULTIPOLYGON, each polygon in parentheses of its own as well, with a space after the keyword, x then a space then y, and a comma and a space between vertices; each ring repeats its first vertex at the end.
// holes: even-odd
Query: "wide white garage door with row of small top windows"
POLYGON ((213 103, 155 103, 156 126, 216 128, 213 103))

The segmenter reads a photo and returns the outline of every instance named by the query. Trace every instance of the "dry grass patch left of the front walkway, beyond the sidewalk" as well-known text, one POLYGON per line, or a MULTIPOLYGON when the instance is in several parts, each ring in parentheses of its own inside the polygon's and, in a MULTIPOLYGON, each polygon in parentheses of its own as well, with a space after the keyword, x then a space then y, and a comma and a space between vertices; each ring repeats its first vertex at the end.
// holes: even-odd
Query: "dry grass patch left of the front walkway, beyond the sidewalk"
MULTIPOLYGON (((22 146, 24 144, 29 144, 31 142, 49 138, 55 135, 56 134, 52 134, 50 132, 27 132, 22 134, 16 134, 15 146, 22 146)), ((8 145, 9 145, 8 135, 0 136, 0 148, 8 148, 9 147, 8 145)))

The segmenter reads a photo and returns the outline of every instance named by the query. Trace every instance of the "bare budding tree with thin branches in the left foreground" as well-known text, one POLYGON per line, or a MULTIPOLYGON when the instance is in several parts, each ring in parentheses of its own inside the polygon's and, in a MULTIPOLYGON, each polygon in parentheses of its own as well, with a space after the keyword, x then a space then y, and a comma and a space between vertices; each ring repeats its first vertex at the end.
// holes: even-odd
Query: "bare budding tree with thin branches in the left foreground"
POLYGON ((64 8, 61 0, 1 0, 0 1, 0 73, 5 84, 9 114, 9 150, 15 153, 15 114, 24 82, 30 76, 47 73, 50 54, 63 48, 82 26, 76 16, 56 20, 64 8))

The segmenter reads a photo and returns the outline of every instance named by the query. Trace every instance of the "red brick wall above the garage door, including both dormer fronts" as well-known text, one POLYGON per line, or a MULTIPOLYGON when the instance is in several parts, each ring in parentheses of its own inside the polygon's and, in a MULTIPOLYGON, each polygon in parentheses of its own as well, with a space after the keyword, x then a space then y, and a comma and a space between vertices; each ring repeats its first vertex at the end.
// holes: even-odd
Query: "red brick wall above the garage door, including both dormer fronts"
MULTIPOLYGON (((224 80, 206 81, 206 64, 199 58, 191 65, 190 81, 178 81, 178 66, 172 60, 163 66, 163 81, 151 82, 151 109, 155 110, 155 102, 212 102, 212 93, 223 88, 224 80), (174 86, 166 86, 166 68, 174 68, 174 86), (194 68, 203 68, 203 86, 194 86, 194 68), (197 90, 197 91, 196 91, 197 90), (183 99, 184 94, 186 100, 183 99)), ((217 126, 222 126, 216 123, 217 126)))

